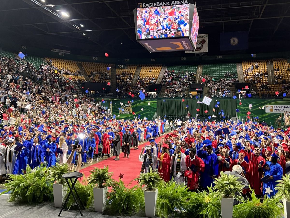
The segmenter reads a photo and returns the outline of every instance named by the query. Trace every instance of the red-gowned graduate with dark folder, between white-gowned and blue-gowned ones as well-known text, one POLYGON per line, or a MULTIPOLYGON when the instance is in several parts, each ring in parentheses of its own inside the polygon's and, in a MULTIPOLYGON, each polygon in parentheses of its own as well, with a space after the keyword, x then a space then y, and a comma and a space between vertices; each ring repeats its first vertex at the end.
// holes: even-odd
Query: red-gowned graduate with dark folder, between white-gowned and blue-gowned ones
POLYGON ((195 156, 196 149, 190 148, 189 155, 185 157, 185 164, 187 170, 185 176, 187 177, 187 187, 189 190, 193 191, 198 188, 198 181, 200 177, 200 172, 204 172, 204 162, 201 158, 195 156))

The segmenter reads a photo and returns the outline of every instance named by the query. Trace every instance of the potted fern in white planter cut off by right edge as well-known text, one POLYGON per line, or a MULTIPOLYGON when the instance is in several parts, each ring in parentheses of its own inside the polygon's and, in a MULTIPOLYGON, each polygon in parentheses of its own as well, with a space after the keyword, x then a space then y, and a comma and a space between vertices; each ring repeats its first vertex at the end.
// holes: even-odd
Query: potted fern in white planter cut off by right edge
POLYGON ((290 218, 290 176, 285 174, 282 180, 276 181, 275 189, 278 191, 275 198, 280 198, 284 204, 284 217, 290 218))

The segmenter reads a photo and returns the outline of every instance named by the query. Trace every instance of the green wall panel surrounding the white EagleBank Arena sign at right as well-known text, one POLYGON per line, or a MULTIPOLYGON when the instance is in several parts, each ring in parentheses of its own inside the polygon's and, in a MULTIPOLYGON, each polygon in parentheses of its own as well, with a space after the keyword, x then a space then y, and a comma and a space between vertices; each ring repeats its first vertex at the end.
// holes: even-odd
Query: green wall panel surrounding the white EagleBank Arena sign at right
POLYGON ((283 117, 283 112, 266 113, 266 105, 289 105, 290 99, 242 99, 241 103, 242 104, 240 105, 240 100, 237 101, 237 109, 240 110, 240 113, 238 113, 238 119, 241 120, 244 118, 244 121, 246 121, 245 118, 247 117, 247 113, 251 112, 249 115, 251 118, 258 116, 260 122, 264 121, 268 125, 273 125, 280 115, 283 117), (252 104, 251 110, 249 109, 250 104, 252 104), (262 109, 263 106, 265 106, 264 109, 262 109))

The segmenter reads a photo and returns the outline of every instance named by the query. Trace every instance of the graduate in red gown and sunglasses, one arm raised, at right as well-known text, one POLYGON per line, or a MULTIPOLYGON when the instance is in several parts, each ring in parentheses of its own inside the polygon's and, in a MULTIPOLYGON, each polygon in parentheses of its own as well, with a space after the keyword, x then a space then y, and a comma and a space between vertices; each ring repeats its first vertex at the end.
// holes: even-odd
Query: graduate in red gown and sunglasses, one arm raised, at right
POLYGON ((251 152, 251 146, 248 147, 249 168, 247 174, 247 180, 250 183, 252 189, 255 190, 256 195, 261 195, 262 192, 262 178, 263 166, 265 159, 260 156, 260 148, 255 147, 255 151, 251 152), (260 163, 260 161, 262 161, 260 163))

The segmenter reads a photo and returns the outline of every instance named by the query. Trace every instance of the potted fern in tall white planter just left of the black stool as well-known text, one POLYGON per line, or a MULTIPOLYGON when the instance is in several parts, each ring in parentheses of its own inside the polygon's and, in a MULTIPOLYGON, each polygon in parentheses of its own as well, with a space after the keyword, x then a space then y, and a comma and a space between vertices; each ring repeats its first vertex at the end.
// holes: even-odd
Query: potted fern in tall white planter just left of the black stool
POLYGON ((48 168, 48 178, 53 181, 53 199, 56 208, 61 208, 63 199, 65 196, 65 192, 67 191, 66 188, 66 181, 62 178, 62 175, 68 172, 68 164, 65 163, 60 165, 56 163, 55 166, 48 168))

